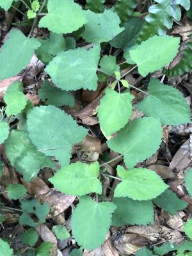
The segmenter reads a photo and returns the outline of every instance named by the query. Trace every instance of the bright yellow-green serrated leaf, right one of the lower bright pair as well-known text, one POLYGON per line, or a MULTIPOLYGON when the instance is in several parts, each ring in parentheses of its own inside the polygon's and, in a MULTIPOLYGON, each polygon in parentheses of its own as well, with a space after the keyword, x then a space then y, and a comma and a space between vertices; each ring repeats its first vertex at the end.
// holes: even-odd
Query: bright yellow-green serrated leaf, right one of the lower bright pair
POLYGON ((115 197, 129 196, 133 200, 150 200, 168 188, 156 172, 146 168, 125 171, 118 165, 117 173, 122 178, 122 182, 116 186, 115 197))

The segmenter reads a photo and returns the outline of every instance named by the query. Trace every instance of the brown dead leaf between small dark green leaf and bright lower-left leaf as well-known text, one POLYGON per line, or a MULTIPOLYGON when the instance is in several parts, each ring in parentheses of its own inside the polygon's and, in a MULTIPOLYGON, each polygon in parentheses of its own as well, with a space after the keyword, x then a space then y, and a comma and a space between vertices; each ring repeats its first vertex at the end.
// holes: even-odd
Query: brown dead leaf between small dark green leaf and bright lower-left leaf
POLYGON ((22 184, 28 189, 28 193, 31 195, 44 195, 47 194, 51 189, 45 184, 44 180, 36 177, 31 182, 27 183, 24 179, 21 179, 22 184))

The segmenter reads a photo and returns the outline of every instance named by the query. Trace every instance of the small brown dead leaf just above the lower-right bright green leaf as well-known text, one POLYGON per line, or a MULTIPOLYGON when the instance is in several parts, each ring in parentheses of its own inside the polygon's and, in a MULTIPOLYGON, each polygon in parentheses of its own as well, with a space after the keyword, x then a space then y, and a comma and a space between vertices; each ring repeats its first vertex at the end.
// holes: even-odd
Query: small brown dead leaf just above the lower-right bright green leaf
POLYGON ((175 173, 173 173, 173 169, 170 167, 161 164, 152 164, 147 168, 155 171, 162 179, 175 179, 175 173))

